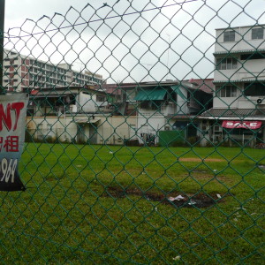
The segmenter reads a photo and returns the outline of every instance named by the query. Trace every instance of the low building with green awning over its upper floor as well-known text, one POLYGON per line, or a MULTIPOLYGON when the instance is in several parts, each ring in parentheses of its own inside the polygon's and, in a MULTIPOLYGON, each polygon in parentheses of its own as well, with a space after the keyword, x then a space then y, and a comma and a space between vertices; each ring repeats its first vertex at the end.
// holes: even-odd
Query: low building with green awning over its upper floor
POLYGON ((161 144, 160 133, 164 131, 167 135, 181 132, 182 142, 197 137, 200 120, 196 117, 208 110, 212 101, 211 80, 121 83, 102 88, 120 101, 116 108, 120 114, 136 116, 136 124, 130 125, 134 131, 131 140, 156 145, 161 144))

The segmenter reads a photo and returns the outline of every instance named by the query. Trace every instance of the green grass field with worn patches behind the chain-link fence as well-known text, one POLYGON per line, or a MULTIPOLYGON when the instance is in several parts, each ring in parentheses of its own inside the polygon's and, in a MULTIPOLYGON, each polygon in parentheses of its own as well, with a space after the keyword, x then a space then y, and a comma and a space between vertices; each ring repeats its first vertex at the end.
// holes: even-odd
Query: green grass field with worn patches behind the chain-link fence
POLYGON ((1 193, 1 260, 261 264, 264 164, 251 148, 28 143, 27 191, 1 193))

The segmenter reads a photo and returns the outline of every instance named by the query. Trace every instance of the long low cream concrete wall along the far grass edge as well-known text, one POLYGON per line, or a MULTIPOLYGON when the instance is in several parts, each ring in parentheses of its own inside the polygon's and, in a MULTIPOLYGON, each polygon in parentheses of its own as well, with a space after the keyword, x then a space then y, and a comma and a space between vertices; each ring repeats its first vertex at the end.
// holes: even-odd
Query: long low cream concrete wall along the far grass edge
MULTIPOLYGON (((96 115, 97 122, 78 123, 77 117, 27 117, 27 132, 35 141, 91 142, 123 145, 124 139, 137 139, 136 117, 96 115)), ((79 116, 86 120, 87 115, 79 116)))

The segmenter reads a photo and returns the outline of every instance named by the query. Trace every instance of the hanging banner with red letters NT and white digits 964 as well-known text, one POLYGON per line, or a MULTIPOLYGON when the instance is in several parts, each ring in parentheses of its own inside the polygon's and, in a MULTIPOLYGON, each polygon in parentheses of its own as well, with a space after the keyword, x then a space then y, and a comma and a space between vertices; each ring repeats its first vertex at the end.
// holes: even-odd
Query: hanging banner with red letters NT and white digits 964
POLYGON ((19 159, 25 140, 28 96, 0 95, 0 191, 24 191, 19 159))

